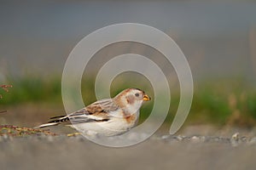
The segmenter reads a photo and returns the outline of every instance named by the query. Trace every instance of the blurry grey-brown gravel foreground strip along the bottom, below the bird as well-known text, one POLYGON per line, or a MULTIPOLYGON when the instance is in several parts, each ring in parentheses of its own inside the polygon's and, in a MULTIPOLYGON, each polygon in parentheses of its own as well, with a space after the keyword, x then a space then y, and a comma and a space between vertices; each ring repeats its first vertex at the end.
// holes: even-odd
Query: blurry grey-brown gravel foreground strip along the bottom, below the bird
MULTIPOLYGON (((137 134, 139 138, 139 134, 137 134)), ((154 135, 109 148, 82 136, 0 137, 0 169, 255 169, 256 137, 154 135)))

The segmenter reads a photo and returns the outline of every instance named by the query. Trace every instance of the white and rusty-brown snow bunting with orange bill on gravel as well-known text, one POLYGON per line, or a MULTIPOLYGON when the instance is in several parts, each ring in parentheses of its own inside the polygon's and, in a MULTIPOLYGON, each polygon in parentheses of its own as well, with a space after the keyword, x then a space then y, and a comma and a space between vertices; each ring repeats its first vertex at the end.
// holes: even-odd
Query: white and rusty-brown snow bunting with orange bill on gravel
POLYGON ((125 133, 137 124, 143 101, 150 100, 137 88, 128 88, 113 99, 98 100, 84 109, 67 116, 51 117, 52 121, 38 127, 64 124, 75 127, 81 133, 113 136, 125 133))

